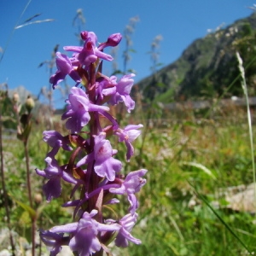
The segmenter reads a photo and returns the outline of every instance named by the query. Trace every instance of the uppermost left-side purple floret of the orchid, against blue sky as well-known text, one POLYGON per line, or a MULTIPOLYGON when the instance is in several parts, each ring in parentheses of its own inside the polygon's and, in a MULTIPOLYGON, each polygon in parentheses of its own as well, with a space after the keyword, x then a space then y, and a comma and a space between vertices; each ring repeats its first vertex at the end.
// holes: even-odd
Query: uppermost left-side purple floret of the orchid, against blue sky
POLYGON ((69 59, 67 55, 56 52, 56 66, 58 71, 49 79, 49 83, 52 84, 53 89, 55 89, 55 86, 61 83, 67 75, 79 84, 81 79, 79 77, 79 73, 76 71, 78 64, 78 61, 75 61, 75 59, 69 59))

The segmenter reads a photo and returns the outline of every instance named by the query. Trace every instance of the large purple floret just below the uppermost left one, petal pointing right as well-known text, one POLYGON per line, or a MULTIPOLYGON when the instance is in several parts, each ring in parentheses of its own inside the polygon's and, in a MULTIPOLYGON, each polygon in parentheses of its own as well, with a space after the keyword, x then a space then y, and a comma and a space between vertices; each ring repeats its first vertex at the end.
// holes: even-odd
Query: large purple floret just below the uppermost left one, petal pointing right
POLYGON ((84 125, 88 124, 90 111, 102 113, 109 110, 106 106, 90 103, 87 94, 80 88, 73 87, 70 92, 67 100, 67 112, 62 114, 61 119, 67 119, 66 127, 72 133, 80 132, 84 125))

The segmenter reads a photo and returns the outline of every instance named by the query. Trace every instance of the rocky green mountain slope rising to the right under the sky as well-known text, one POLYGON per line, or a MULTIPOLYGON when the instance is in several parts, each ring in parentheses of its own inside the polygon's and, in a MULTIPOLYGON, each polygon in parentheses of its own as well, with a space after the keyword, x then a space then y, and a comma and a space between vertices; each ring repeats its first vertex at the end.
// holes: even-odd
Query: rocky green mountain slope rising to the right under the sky
POLYGON ((256 13, 196 39, 177 61, 137 85, 145 102, 168 103, 242 96, 236 51, 246 67, 250 95, 256 92, 256 13))

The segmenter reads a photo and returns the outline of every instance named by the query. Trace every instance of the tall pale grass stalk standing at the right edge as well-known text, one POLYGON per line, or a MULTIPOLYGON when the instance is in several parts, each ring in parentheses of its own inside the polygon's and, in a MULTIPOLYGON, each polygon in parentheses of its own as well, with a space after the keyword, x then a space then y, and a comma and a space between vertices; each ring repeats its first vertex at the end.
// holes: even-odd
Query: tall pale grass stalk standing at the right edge
POLYGON ((252 118, 250 112, 250 105, 249 105, 249 97, 247 91, 247 82, 245 79, 245 70, 242 66, 242 60, 239 52, 236 51, 236 58, 238 61, 238 68, 241 73, 241 88, 245 95, 246 104, 247 104, 247 120, 248 120, 248 128, 249 128, 249 137, 250 137, 250 145, 251 145, 251 156, 252 156, 252 166, 253 166, 253 183, 254 183, 254 204, 256 206, 256 175, 255 175, 255 162, 254 162, 254 149, 253 149, 253 128, 252 128, 252 118))

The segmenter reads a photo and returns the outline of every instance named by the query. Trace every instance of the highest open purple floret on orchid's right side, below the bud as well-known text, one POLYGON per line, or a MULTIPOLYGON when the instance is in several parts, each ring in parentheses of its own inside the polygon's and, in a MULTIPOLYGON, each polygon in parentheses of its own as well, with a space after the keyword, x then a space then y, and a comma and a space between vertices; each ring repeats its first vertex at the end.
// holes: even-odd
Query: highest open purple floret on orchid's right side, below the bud
POLYGON ((131 110, 135 107, 135 102, 131 99, 130 96, 131 87, 134 82, 134 80, 131 78, 134 76, 135 74, 131 73, 121 78, 119 83, 116 84, 116 93, 111 97, 109 101, 109 103, 112 105, 116 105, 119 102, 124 102, 128 113, 131 113, 131 110))

